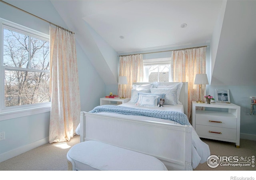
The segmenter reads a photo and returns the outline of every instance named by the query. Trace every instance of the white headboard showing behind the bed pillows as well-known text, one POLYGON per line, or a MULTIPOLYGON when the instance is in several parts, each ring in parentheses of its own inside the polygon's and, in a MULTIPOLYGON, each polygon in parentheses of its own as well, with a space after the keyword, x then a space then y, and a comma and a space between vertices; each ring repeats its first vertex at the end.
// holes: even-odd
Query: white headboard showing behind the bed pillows
MULTIPOLYGON (((172 84, 176 84, 177 82, 157 82, 157 85, 160 86, 169 86, 172 84)), ((150 84, 149 82, 134 82, 133 84, 150 84)), ((188 116, 188 82, 182 82, 182 88, 180 90, 180 102, 184 107, 184 112, 188 116)))

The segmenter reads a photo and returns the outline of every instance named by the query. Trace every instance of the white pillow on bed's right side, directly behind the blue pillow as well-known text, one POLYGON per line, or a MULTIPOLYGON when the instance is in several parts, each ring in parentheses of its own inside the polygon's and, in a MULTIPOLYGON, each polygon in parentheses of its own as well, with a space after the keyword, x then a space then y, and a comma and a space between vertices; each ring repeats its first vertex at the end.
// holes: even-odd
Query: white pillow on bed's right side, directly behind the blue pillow
POLYGON ((177 105, 177 88, 151 88, 151 93, 162 94, 164 93, 164 104, 177 105))

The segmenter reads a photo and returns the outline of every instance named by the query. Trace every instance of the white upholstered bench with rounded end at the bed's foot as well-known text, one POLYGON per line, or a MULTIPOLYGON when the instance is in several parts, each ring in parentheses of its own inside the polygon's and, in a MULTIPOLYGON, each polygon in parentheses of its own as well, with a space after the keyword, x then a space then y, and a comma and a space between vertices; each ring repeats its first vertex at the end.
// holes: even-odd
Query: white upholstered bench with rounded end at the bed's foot
POLYGON ((153 156, 98 141, 72 146, 67 159, 68 170, 167 170, 153 156))

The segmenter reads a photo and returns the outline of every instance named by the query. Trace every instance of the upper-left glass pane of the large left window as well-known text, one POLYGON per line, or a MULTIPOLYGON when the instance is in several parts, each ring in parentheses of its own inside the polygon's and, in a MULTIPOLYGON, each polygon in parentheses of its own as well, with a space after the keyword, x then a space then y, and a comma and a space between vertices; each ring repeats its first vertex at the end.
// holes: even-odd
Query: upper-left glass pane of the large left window
POLYGON ((4 29, 4 66, 28 68, 29 36, 4 29))

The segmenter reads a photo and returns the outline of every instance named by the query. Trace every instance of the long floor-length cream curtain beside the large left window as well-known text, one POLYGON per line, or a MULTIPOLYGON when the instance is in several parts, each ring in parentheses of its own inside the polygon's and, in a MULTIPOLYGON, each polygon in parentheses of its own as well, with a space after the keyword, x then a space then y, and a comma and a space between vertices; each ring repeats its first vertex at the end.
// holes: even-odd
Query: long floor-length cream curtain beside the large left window
POLYGON ((80 122, 80 92, 74 34, 50 26, 49 142, 69 141, 80 122))

